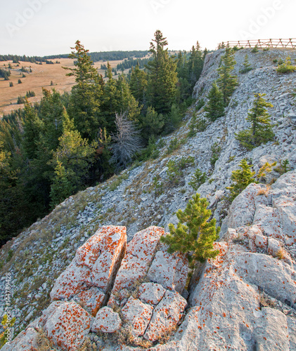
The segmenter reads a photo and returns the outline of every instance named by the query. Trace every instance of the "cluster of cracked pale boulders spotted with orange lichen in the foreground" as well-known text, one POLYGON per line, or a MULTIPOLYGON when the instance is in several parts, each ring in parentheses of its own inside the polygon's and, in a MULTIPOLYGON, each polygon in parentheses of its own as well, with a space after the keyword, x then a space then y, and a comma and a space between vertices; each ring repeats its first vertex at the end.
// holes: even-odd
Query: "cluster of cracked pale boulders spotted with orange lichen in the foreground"
POLYGON ((166 254, 160 244, 164 234, 163 228, 149 227, 127 244, 125 227, 101 227, 56 280, 51 305, 4 350, 38 349, 40 335, 67 351, 82 347, 89 333, 116 333, 119 339, 128 330, 131 345, 170 335, 187 305, 181 293, 188 260, 181 254, 158 258, 166 254))

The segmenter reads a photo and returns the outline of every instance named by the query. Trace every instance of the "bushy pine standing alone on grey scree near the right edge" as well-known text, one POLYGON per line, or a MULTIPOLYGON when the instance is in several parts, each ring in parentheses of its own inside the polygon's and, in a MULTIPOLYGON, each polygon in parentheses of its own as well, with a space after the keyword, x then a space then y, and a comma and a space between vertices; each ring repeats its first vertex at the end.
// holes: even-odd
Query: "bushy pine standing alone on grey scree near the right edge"
POLYGON ((267 107, 274 106, 264 99, 265 95, 254 94, 254 107, 252 107, 246 118, 247 121, 251 122, 251 127, 236 134, 236 139, 247 150, 252 150, 254 147, 274 139, 270 114, 266 110, 267 107))

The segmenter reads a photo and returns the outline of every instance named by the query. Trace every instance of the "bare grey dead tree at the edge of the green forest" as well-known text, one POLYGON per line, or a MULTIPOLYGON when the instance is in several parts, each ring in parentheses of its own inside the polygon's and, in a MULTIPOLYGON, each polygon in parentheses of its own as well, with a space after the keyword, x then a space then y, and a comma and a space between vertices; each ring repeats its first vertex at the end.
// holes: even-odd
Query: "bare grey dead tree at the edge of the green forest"
POLYGON ((115 164, 116 171, 126 168, 136 152, 141 150, 140 131, 136 129, 134 123, 127 119, 127 114, 116 114, 115 126, 117 133, 111 135, 112 157, 110 162, 115 164))

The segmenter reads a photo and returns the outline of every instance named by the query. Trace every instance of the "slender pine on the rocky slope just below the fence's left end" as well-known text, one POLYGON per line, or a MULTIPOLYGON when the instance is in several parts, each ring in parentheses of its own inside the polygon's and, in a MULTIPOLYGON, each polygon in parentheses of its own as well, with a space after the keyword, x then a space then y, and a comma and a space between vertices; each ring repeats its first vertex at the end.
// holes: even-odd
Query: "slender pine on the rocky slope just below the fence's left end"
POLYGON ((225 55, 221 57, 221 61, 222 65, 217 69, 219 73, 217 83, 223 93, 224 104, 228 105, 231 95, 238 85, 237 77, 231 75, 234 65, 236 65, 231 48, 226 48, 225 55))

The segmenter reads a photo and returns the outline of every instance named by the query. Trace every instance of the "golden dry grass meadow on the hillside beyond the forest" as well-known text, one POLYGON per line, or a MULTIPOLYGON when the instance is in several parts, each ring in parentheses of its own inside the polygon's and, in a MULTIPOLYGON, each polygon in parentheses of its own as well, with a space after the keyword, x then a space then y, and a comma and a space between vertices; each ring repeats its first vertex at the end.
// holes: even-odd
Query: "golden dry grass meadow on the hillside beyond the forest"
MULTIPOLYGON (((11 69, 11 76, 8 81, 4 81, 4 78, 0 78, 0 118, 4 114, 8 114, 13 110, 23 108, 24 105, 17 104, 19 96, 25 96, 27 91, 34 91, 36 96, 29 98, 30 102, 38 102, 42 97, 42 87, 46 89, 55 88, 60 93, 64 91, 71 91, 73 85, 75 85, 75 77, 66 77, 67 71, 63 67, 75 67, 74 60, 70 58, 58 58, 52 60, 54 65, 46 65, 43 62, 42 65, 31 62, 22 62, 17 65, 12 61, 0 62, 0 68, 8 68, 8 64, 11 63, 13 67, 11 69), (28 71, 32 69, 32 73, 21 72, 22 67, 25 67, 28 71), (25 78, 22 78, 22 73, 25 74, 25 78), (22 81, 22 84, 18 84, 18 79, 22 81), (13 82, 13 86, 9 86, 9 82, 13 82), (53 81, 53 86, 51 86, 53 81)), ((122 60, 110 61, 112 67, 117 66, 122 60)), ((94 67, 98 68, 98 72, 104 77, 105 71, 101 68, 101 64, 107 62, 98 61, 95 62, 94 67)), ((126 70, 127 73, 128 70, 126 70)), ((119 72, 120 73, 120 72, 119 72)))

